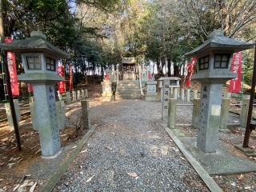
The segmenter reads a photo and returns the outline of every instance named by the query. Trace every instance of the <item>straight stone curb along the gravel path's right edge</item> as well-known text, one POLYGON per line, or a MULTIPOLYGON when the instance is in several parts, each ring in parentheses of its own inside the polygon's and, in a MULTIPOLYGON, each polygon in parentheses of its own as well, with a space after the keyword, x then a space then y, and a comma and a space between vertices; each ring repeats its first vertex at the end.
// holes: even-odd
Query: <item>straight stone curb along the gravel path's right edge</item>
POLYGON ((178 137, 174 134, 172 130, 170 130, 165 124, 162 124, 163 128, 166 130, 166 133, 169 134, 170 138, 173 139, 175 144, 178 146, 178 149, 182 151, 182 154, 186 157, 186 159, 190 162, 190 165, 194 167, 194 170, 197 171, 202 181, 205 182, 206 186, 210 191, 219 191, 222 192, 222 189, 218 186, 218 184, 214 181, 213 178, 210 177, 210 174, 206 172, 206 170, 200 165, 200 163, 190 154, 183 143, 178 139, 178 137))

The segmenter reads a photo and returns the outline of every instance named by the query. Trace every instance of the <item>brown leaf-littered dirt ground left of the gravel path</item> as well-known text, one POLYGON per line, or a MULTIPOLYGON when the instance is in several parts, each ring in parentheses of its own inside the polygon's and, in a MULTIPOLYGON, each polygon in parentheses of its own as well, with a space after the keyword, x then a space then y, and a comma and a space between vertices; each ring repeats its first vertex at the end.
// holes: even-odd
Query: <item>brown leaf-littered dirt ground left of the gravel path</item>
MULTIPOLYGON (((98 93, 101 91, 101 86, 87 86, 86 89, 88 89, 90 98, 97 99, 100 96, 98 93)), ((71 108, 70 110, 76 109, 71 108)), ((81 115, 80 108, 78 108, 78 112, 71 113, 71 115, 70 110, 67 110, 66 113, 68 114, 67 127, 60 132, 62 146, 74 143, 85 134, 85 132, 77 131, 78 116, 81 115)), ((6 116, 3 115, 2 118, 6 118, 6 116)), ((25 174, 30 165, 41 158, 38 131, 32 128, 30 114, 22 116, 22 120, 19 122, 19 131, 22 151, 17 150, 14 131, 10 130, 8 122, 0 123, 0 192, 2 190, 13 191, 15 186, 26 182, 28 182, 26 190, 30 190, 30 187, 37 182, 34 191, 38 191, 45 182, 43 179, 32 179, 30 175, 25 174)))

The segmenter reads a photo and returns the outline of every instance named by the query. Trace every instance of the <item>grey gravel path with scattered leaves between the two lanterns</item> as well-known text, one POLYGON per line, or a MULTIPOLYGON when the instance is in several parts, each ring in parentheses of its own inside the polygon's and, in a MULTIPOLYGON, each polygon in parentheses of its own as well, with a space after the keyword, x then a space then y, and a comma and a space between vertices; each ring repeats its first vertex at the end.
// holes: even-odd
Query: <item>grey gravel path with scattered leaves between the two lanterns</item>
POLYGON ((161 104, 90 103, 95 134, 54 191, 208 191, 161 126, 161 104))

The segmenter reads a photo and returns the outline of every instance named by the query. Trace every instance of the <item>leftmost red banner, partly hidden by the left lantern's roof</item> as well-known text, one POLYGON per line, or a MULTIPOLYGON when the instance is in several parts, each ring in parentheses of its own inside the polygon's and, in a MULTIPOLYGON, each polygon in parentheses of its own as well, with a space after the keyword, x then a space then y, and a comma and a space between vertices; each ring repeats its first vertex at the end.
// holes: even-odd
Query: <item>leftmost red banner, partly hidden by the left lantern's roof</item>
MULTIPOLYGON (((5 38, 5 42, 13 42, 12 38, 5 38)), ((16 61, 15 55, 11 52, 7 52, 7 65, 10 73, 10 86, 11 86, 11 93, 14 96, 19 95, 18 91, 18 77, 17 77, 17 70, 16 70, 16 61)))

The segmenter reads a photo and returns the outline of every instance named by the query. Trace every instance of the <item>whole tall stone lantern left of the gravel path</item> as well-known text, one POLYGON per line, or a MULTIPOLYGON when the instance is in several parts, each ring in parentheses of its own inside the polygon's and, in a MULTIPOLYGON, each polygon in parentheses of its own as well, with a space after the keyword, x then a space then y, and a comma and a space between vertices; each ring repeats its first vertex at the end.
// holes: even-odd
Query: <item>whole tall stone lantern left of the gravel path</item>
POLYGON ((57 74, 58 58, 69 55, 47 42, 46 35, 32 31, 30 38, 11 43, 1 43, 2 50, 21 54, 25 74, 18 80, 33 85, 38 115, 38 133, 43 157, 51 157, 61 149, 57 125, 54 85, 63 81, 57 74))

